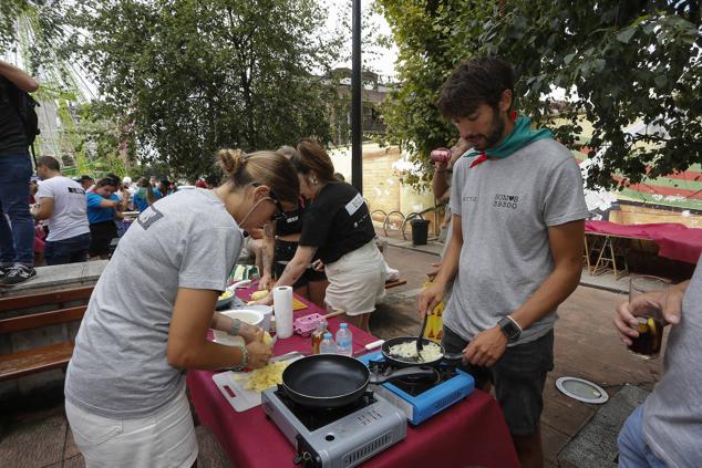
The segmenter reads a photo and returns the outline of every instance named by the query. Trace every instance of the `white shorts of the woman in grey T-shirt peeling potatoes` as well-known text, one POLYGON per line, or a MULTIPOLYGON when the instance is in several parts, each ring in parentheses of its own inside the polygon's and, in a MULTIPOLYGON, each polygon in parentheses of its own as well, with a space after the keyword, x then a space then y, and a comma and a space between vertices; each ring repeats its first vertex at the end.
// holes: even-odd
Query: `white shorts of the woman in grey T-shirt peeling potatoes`
POLYGON ((89 468, 189 468, 197 460, 197 439, 185 386, 163 408, 138 419, 97 416, 69 401, 65 414, 89 468))

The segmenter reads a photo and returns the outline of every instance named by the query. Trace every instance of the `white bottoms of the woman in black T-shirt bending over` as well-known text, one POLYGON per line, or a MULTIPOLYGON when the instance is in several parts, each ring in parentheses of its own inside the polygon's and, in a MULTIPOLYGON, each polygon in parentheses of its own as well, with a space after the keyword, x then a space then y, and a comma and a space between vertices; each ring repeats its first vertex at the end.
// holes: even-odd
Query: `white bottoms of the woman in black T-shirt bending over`
POLYGON ((324 302, 347 315, 373 312, 385 297, 385 261, 374 240, 324 266, 324 302))

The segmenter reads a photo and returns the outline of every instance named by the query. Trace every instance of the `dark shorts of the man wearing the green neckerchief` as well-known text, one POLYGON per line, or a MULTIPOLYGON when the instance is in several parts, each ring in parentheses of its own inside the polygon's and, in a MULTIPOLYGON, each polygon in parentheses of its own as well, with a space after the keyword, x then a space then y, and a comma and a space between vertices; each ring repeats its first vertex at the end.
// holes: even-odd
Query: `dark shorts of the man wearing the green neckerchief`
MULTIPOLYGON (((460 353, 468 342, 444 326, 442 344, 446 353, 460 353)), ((492 367, 467 364, 461 368, 473 375, 477 388, 487 382, 495 385, 497 402, 513 435, 531 435, 538 429, 544 409, 546 374, 554 370, 554 331, 529 343, 507 347, 492 367)))

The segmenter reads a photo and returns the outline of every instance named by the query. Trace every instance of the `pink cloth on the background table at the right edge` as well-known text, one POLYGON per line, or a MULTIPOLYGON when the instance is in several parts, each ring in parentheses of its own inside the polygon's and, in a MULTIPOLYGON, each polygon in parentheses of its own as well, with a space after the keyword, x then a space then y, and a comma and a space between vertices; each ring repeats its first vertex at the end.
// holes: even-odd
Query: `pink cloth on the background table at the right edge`
POLYGON ((585 221, 585 230, 652 240, 659 247, 659 256, 688 263, 696 263, 702 254, 702 229, 688 228, 675 222, 618 225, 610 221, 585 221))

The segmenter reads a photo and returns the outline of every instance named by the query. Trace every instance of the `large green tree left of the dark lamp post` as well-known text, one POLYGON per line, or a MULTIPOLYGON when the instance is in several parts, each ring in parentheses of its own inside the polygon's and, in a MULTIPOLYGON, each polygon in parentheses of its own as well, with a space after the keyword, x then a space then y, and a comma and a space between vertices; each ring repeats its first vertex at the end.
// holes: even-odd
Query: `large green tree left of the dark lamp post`
POLYGON ((312 0, 86 1, 66 8, 69 50, 143 162, 197 176, 220 147, 331 139, 321 75, 338 44, 312 0))

